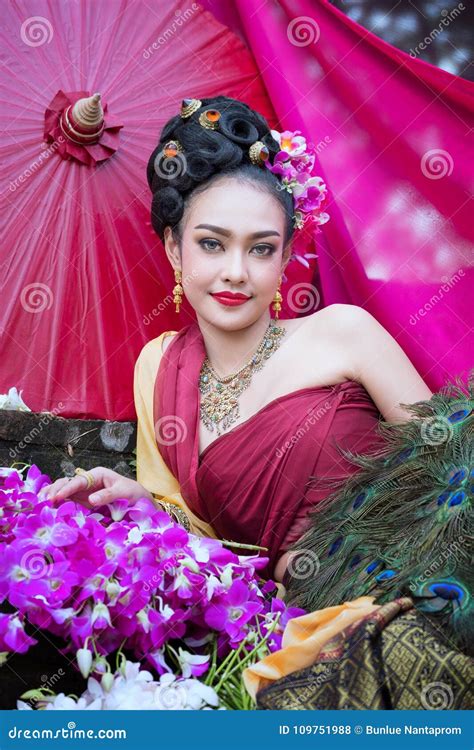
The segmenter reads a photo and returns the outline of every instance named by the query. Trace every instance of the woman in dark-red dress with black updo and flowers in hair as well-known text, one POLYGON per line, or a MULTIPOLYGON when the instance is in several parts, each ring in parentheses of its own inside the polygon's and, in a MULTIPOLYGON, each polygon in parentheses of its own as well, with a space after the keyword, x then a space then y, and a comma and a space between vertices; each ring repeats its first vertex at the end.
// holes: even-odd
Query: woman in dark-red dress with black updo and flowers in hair
POLYGON ((304 147, 235 99, 183 101, 147 174, 152 225, 175 272, 174 302, 179 310, 185 293, 195 320, 149 342, 138 358, 139 481, 97 467, 48 488, 57 499, 98 505, 166 498, 193 530, 244 545, 242 553, 263 547, 265 573, 279 581, 288 548, 327 494, 318 480, 354 471, 340 448, 377 445, 380 416, 403 422, 403 405, 431 396, 397 342, 360 307, 271 319, 272 302, 276 314, 281 308, 295 225, 305 209, 320 212, 319 178, 306 175, 306 203, 301 181, 285 179, 288 154, 303 169, 313 166, 304 147))

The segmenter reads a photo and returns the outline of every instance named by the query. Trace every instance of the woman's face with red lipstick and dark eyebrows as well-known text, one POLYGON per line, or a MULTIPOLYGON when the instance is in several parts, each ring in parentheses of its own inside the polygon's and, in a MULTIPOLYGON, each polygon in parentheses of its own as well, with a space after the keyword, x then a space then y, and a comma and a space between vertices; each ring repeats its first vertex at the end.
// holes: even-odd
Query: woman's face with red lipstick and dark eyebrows
POLYGON ((198 317, 229 329, 250 325, 269 311, 283 258, 285 215, 279 202, 236 178, 197 195, 185 214, 184 293, 198 317), (212 295, 238 292, 249 299, 225 305, 212 295))

